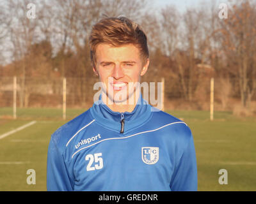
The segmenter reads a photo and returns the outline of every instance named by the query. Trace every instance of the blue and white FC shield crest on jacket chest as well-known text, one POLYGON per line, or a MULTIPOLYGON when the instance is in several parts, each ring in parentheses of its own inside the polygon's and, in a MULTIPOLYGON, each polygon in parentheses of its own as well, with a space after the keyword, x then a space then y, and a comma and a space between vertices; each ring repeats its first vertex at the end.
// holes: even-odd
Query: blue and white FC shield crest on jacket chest
POLYGON ((141 157, 145 164, 156 164, 159 159, 159 148, 141 147, 141 157))

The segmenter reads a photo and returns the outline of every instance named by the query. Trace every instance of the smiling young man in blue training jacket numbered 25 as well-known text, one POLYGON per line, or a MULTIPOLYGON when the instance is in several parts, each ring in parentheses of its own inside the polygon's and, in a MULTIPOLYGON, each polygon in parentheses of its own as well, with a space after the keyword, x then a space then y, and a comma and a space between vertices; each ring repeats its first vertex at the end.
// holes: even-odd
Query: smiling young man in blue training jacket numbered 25
POLYGON ((149 64, 140 26, 104 18, 93 26, 90 49, 102 91, 92 108, 52 135, 47 190, 196 191, 190 129, 154 110, 134 85, 149 64))

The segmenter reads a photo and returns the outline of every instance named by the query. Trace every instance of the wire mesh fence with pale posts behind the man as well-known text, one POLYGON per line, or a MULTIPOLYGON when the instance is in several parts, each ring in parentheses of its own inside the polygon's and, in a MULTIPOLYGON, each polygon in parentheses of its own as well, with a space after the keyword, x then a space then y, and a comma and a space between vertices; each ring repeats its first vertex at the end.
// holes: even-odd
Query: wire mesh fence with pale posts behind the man
MULTIPOLYGON (((9 107, 15 117, 16 108, 90 108, 93 96, 99 90, 93 86, 98 78, 38 78, 38 77, 0 77, 0 116, 9 107)), ((197 78, 191 84, 180 81, 180 78, 154 78, 154 81, 141 80, 141 84, 154 86, 155 98, 163 94, 163 110, 214 110, 234 111, 241 103, 236 81, 223 78, 197 78), (158 83, 158 84, 157 84, 158 83), (212 87, 211 87, 212 84, 212 87), (161 85, 161 89, 157 89, 161 85), (212 96, 211 96, 212 89, 212 96), (158 91, 158 93, 157 93, 158 91), (158 95, 157 95, 158 94, 158 95), (212 101, 211 101, 212 98, 212 101), (212 102, 212 103, 211 103, 212 102), (212 104, 212 105, 211 105, 212 104)), ((141 93, 145 95, 145 87, 141 93)), ((146 90, 147 92, 147 90, 146 90)), ((147 98, 147 97, 146 97, 147 98)), ((148 98, 147 98, 148 99, 148 98)), ((150 101, 148 100, 150 103, 150 101)), ((156 106, 156 105, 153 105, 156 106)), ((256 110, 256 96, 252 97, 251 106, 256 110)))

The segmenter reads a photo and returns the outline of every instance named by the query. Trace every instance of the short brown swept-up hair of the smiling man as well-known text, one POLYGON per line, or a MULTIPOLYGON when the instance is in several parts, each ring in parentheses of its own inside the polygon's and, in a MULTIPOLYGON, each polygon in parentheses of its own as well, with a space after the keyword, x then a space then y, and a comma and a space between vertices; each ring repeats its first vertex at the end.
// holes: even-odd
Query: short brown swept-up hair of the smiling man
POLYGON ((108 17, 93 25, 89 38, 90 54, 95 67, 97 45, 107 43, 113 47, 133 44, 140 49, 141 57, 146 62, 149 57, 147 36, 140 25, 126 17, 108 17))

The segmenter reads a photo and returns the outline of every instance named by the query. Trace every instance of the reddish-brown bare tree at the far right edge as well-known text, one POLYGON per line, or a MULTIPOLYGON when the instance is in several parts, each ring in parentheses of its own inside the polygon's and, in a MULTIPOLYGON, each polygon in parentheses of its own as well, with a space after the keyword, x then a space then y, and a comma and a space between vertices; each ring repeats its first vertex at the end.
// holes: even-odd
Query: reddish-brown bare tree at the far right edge
POLYGON ((238 2, 228 11, 228 19, 221 20, 221 45, 225 52, 230 75, 239 83, 241 105, 250 108, 256 89, 256 10, 250 1, 238 2))

